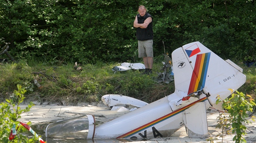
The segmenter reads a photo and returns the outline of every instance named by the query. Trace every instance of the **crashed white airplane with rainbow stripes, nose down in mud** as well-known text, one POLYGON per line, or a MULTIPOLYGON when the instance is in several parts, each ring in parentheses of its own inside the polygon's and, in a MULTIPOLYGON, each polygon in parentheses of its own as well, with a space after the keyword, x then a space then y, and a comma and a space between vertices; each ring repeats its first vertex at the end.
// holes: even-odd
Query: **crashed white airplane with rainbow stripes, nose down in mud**
POLYGON ((224 61, 200 42, 184 45, 172 55, 175 92, 171 95, 140 107, 119 118, 96 126, 93 115, 87 120, 63 120, 49 124, 46 137, 80 139, 142 139, 170 137, 182 126, 190 138, 208 137, 206 109, 220 109, 221 99, 237 90, 246 81, 246 76, 232 61, 224 61), (68 127, 69 124, 69 127, 68 127), (73 130, 75 128, 76 130, 73 130), (79 131, 78 131, 79 130, 79 131), (66 133, 65 133, 66 132, 66 133))

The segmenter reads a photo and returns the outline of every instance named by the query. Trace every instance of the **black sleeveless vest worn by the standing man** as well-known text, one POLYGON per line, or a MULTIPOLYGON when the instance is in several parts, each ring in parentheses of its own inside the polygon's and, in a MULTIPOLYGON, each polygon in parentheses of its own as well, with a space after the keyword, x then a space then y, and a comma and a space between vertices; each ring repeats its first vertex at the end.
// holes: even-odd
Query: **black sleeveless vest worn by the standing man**
MULTIPOLYGON (((137 15, 138 23, 139 24, 144 23, 144 21, 148 17, 152 18, 152 16, 149 13, 146 13, 143 17, 141 17, 141 15, 138 14, 137 15)), ((145 40, 153 39, 154 35, 153 35, 153 24, 152 23, 153 23, 153 19, 152 19, 152 22, 149 23, 147 28, 140 28, 140 27, 137 28, 137 31, 136 31, 137 40, 145 41, 145 40)))

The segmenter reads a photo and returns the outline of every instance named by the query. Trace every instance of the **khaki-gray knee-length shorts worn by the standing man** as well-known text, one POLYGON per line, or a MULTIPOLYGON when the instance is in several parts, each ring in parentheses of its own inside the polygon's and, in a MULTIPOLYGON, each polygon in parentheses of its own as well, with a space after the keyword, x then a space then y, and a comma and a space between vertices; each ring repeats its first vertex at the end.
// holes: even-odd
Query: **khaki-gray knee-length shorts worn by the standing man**
POLYGON ((138 40, 139 58, 153 57, 153 40, 138 40))

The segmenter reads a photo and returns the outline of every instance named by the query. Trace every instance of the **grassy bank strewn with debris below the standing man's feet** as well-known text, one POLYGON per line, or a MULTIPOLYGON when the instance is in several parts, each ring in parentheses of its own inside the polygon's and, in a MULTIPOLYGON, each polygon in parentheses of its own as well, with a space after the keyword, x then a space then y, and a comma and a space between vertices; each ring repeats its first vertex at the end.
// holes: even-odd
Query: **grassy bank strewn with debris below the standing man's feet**
MULTIPOLYGON (((138 70, 114 73, 112 68, 120 63, 82 63, 82 71, 74 63, 39 62, 35 60, 3 63, 0 65, 0 95, 2 101, 12 95, 17 84, 26 87, 27 101, 49 103, 98 102, 106 94, 121 94, 151 103, 174 92, 174 82, 158 82, 158 72, 163 72, 162 59, 154 61, 153 74, 138 70), (37 84, 35 84, 37 82, 37 84)), ((246 67, 246 83, 240 92, 256 95, 256 68, 246 67)))

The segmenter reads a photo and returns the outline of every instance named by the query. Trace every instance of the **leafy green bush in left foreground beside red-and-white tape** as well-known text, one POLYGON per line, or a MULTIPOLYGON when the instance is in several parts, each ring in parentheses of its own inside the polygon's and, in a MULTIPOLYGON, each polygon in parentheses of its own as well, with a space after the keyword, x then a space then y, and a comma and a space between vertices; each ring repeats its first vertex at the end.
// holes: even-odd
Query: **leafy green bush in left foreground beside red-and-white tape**
MULTIPOLYGON (((18 90, 14 90, 14 93, 10 99, 6 99, 7 102, 0 103, 0 142, 1 143, 31 143, 36 142, 38 138, 33 136, 31 139, 28 139, 24 132, 28 132, 26 128, 20 125, 18 121, 21 118, 21 114, 30 110, 33 106, 33 103, 30 102, 26 109, 21 109, 19 105, 24 101, 24 93, 26 93, 25 88, 22 88, 21 85, 17 85, 18 90), (12 109, 11 109, 12 108, 12 109), (11 141, 9 140, 9 135, 11 133, 11 128, 15 127, 16 136, 11 141)), ((30 122, 27 123, 31 124, 30 122)))

